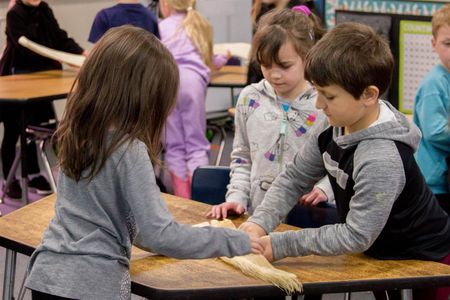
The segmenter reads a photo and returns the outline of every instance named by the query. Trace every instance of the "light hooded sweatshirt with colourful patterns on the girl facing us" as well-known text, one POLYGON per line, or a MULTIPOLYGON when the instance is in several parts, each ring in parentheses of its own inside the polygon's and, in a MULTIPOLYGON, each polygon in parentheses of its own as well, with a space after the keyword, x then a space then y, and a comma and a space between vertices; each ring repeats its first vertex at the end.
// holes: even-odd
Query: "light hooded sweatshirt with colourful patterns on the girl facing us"
MULTIPOLYGON (((250 213, 262 202, 275 177, 307 142, 312 127, 324 119, 315 108, 316 97, 311 87, 289 105, 277 99, 265 79, 241 92, 236 105, 227 202, 239 203, 250 213)), ((334 200, 328 178, 317 187, 328 201, 334 200)))

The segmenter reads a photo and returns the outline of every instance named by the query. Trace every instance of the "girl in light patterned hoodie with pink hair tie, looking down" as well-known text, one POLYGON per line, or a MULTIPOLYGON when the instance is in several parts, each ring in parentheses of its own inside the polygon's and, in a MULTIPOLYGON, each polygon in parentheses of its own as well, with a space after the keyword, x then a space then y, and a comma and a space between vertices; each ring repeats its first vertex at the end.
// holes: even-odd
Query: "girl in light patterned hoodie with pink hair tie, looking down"
MULTIPOLYGON (((323 33, 304 5, 262 17, 252 47, 265 79, 247 86, 239 96, 226 202, 214 206, 209 217, 251 214, 304 146, 314 124, 324 118, 315 108, 317 92, 303 76, 306 53, 323 33)), ((307 205, 334 198, 327 178, 305 194, 302 200, 307 205)))

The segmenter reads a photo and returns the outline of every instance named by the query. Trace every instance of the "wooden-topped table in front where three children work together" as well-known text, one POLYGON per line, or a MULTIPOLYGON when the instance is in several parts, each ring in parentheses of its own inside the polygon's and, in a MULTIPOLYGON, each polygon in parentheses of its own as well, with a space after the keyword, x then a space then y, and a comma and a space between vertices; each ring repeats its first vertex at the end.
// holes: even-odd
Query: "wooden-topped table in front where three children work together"
MULTIPOLYGON (((205 221, 210 206, 164 195, 170 212, 187 224, 205 221)), ((51 195, 0 218, 0 246, 7 248, 3 299, 12 299, 16 252, 31 255, 53 217, 51 195)), ((239 224, 242 219, 236 220, 239 224)), ((281 225, 278 230, 294 227, 281 225)), ((292 272, 306 293, 450 285, 450 266, 427 261, 382 261, 365 255, 287 258, 275 266, 292 272)), ((261 280, 243 275, 219 259, 177 260, 133 249, 130 269, 132 292, 151 299, 223 299, 276 296, 282 292, 261 280)))

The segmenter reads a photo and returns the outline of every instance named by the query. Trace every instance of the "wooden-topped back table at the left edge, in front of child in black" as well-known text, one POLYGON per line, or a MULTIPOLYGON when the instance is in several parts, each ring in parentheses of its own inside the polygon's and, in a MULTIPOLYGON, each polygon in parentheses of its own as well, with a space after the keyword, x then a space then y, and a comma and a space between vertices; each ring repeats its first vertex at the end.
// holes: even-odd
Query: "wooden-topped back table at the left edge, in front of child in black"
MULTIPOLYGON (((21 108, 21 134, 20 134, 20 158, 21 158, 21 182, 22 202, 28 203, 27 169, 26 169, 26 118, 25 106, 30 102, 51 102, 67 97, 75 80, 76 70, 55 70, 0 76, 0 103, 12 103, 21 108)), ((4 174, 7 176, 8 174, 4 174)))

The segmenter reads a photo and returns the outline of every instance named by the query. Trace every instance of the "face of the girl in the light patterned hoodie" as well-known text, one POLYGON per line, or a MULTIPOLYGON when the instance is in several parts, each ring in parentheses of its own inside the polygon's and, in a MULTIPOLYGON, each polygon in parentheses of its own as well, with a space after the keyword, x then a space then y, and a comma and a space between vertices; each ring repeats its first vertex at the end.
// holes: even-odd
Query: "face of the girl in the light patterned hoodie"
POLYGON ((291 42, 281 46, 278 58, 280 65, 275 62, 271 66, 262 65, 262 73, 279 97, 294 100, 306 86, 303 60, 291 42))

